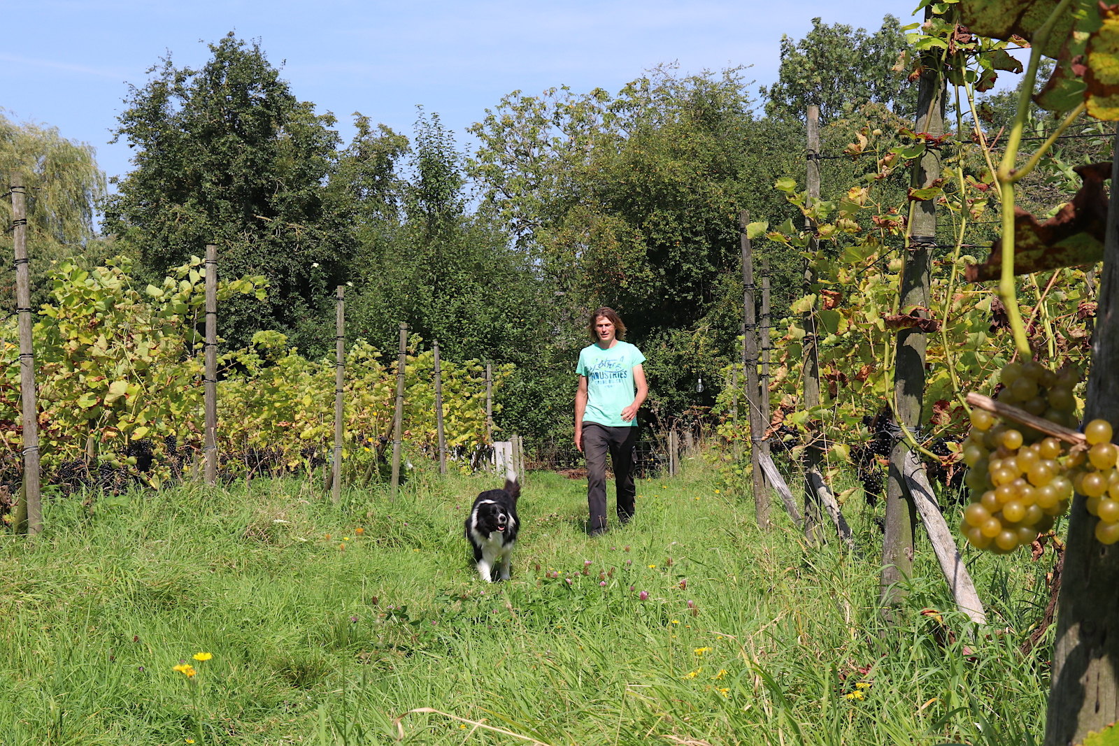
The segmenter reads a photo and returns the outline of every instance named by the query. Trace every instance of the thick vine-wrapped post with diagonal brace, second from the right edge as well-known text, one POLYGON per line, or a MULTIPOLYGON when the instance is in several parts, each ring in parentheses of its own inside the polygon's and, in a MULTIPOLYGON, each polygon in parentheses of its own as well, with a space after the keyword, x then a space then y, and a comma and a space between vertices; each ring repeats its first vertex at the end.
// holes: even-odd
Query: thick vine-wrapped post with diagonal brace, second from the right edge
MULTIPOLYGON (((931 8, 925 8, 925 18, 931 17, 931 8)), ((929 53, 925 53, 927 55, 929 53)), ((924 59, 918 85, 918 132, 937 136, 944 131, 943 78, 934 59, 924 59)), ((940 178, 940 150, 925 149, 924 154, 913 164, 911 186, 928 187, 940 178)), ((912 312, 929 317, 931 249, 937 243, 937 202, 922 200, 913 202, 913 219, 905 240, 902 270, 901 313, 912 312)), ((897 331, 894 344, 894 390, 891 402, 894 423, 910 432, 918 432, 921 424, 921 408, 924 399, 924 362, 928 334, 918 327, 897 331)), ((901 437, 895 437, 890 452, 890 469, 886 480, 886 526, 882 541, 882 575, 880 593, 882 606, 887 616, 904 595, 901 582, 913 569, 913 532, 916 525, 916 508, 905 482, 905 465, 910 446, 901 437)))

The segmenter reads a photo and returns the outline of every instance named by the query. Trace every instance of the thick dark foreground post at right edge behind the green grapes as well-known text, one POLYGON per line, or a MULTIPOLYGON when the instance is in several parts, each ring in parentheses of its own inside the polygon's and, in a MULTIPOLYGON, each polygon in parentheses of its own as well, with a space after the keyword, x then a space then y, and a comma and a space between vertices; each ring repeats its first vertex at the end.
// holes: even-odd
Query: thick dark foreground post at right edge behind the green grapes
MULTIPOLYGON (((1116 138, 1119 145, 1119 135, 1116 138)), ((1119 153, 1119 150, 1115 151, 1119 153)), ((1111 164, 1119 183, 1119 159, 1111 164)), ((1119 431, 1119 195, 1111 190, 1084 422, 1119 431)), ((1112 438, 1115 440, 1115 438, 1112 438)), ((1098 519, 1078 494, 1069 513, 1053 645, 1045 746, 1081 744, 1119 719, 1119 544, 1096 540, 1098 519)), ((1101 743, 1107 742, 1104 736, 1101 743)))

